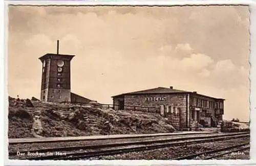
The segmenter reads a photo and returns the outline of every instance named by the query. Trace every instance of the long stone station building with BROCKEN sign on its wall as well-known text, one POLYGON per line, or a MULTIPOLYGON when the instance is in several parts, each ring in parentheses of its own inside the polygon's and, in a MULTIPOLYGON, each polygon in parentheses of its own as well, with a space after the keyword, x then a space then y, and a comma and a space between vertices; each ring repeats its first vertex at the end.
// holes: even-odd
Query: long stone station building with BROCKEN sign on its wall
POLYGON ((131 106, 148 107, 151 109, 143 111, 158 111, 161 115, 170 117, 173 126, 180 130, 193 130, 198 124, 216 127, 224 114, 225 99, 176 90, 173 87, 124 93, 112 98, 115 110, 129 110, 132 109, 131 106))

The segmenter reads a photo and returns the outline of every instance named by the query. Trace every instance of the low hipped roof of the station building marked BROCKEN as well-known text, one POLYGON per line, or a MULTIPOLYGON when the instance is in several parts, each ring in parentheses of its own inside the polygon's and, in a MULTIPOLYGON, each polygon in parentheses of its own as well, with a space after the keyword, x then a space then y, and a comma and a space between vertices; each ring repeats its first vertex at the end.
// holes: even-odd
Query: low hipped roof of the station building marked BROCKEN
MULTIPOLYGON (((142 90, 142 91, 123 93, 123 94, 115 95, 115 96, 112 96, 112 97, 117 97, 117 96, 122 96, 122 95, 159 94, 159 93, 160 94, 193 93, 193 94, 197 94, 197 95, 200 95, 200 96, 210 97, 210 96, 198 94, 197 92, 189 92, 189 91, 173 89, 173 87, 170 87, 170 88, 158 87, 158 88, 146 89, 146 90, 142 90)), ((214 97, 210 97, 210 98, 214 98, 214 97)), ((214 99, 221 99, 221 98, 214 98, 214 99)), ((225 99, 222 99, 222 100, 225 100, 225 99)))

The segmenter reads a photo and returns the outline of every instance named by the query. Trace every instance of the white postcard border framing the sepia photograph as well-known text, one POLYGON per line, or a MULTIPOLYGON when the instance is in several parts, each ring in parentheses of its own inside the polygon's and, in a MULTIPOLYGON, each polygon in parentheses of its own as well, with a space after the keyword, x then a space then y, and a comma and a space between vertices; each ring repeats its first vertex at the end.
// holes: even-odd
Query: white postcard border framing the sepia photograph
MULTIPOLYGON (((4 128, 2 132, 2 144, 5 158, 5 165, 254 165, 256 164, 256 122, 253 117, 256 117, 256 3, 253 1, 1 1, 1 21, 4 22, 1 29, 1 44, 2 51, 0 58, 0 116, 3 117, 1 123, 4 128), (7 42, 8 42, 8 11, 7 5, 146 5, 146 6, 173 6, 173 5, 249 5, 250 6, 250 160, 79 160, 79 161, 29 161, 29 160, 9 160, 8 159, 8 66, 7 66, 7 42), (2 10, 1 10, 2 9, 2 10), (2 14, 3 14, 2 13, 2 14), (2 93, 1 93, 2 92, 2 93), (4 93, 3 93, 4 92, 4 93)), ((2 158, 1 157, 1 158, 2 158)))

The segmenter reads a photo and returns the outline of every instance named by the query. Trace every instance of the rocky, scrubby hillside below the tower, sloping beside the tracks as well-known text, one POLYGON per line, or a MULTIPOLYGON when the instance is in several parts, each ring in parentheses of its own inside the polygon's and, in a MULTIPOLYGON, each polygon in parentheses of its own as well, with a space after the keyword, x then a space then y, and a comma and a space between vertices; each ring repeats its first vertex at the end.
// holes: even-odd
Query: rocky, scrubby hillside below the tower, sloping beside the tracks
POLYGON ((9 138, 173 132, 158 114, 9 97, 9 138))

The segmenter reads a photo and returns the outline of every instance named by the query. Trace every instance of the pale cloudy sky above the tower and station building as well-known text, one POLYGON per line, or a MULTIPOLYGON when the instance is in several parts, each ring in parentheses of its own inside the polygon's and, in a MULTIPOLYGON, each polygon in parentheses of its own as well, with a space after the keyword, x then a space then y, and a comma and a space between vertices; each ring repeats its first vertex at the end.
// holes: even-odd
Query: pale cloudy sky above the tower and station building
POLYGON ((246 6, 9 8, 9 95, 40 96, 41 62, 75 54, 71 91, 111 96, 173 86, 225 98, 224 118, 249 119, 246 6))

